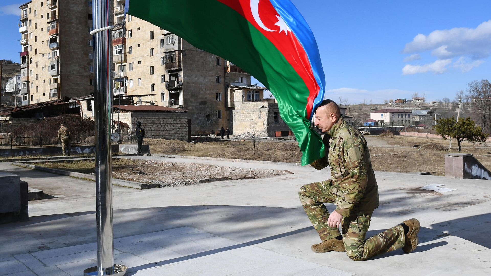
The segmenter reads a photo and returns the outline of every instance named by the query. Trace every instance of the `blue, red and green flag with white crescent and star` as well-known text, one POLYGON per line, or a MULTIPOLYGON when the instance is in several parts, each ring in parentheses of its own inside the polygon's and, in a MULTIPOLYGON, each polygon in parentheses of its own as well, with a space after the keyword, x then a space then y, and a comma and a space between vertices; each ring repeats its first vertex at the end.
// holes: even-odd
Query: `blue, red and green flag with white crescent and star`
POLYGON ((310 129, 324 71, 312 30, 290 0, 126 0, 125 10, 251 74, 275 96, 302 165, 325 155, 310 129))

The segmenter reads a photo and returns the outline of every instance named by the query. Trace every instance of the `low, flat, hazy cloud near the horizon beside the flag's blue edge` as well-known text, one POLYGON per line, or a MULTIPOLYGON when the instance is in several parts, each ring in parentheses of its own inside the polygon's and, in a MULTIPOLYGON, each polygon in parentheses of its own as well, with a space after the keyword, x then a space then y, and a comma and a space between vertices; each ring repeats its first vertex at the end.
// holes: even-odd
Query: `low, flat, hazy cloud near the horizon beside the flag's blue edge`
MULTIPOLYGON (((421 91, 420 91, 421 92, 421 91)), ((335 88, 326 91, 324 98, 331 99, 334 102, 339 101, 339 97, 348 99, 352 104, 359 104, 366 99, 368 102, 373 101, 374 104, 382 104, 384 100, 409 98, 414 91, 400 89, 381 89, 381 90, 366 90, 358 88, 335 88)))

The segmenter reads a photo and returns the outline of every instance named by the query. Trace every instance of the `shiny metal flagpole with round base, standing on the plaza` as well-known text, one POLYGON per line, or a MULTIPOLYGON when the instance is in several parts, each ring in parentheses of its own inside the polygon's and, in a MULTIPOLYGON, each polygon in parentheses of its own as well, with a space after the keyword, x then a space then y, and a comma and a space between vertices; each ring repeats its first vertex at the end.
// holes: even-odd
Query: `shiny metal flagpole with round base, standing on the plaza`
MULTIPOLYGON (((112 2, 112 1, 111 1, 112 2)), ((87 276, 126 274, 126 266, 114 265, 112 232, 111 165, 111 40, 109 0, 93 1, 95 176, 97 220, 97 266, 84 270, 87 276)))

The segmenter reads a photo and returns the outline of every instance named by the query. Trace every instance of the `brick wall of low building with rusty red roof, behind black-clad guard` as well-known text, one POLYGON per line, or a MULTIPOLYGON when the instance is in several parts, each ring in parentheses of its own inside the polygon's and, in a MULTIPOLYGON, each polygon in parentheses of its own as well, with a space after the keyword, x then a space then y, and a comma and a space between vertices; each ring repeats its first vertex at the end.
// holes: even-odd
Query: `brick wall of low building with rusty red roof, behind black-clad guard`
MULTIPOLYGON (((115 120, 117 116, 113 114, 115 120)), ((186 112, 127 112, 120 113, 119 120, 128 124, 132 133, 136 129, 136 122, 141 122, 145 129, 145 138, 188 139, 186 112)))

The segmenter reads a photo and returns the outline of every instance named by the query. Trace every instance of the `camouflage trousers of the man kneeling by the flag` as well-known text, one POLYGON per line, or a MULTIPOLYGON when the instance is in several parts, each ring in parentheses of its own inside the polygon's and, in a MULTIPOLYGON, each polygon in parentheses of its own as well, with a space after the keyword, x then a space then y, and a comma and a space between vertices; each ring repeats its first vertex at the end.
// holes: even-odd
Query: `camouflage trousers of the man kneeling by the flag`
MULTIPOLYGON (((299 191, 302 207, 323 241, 341 235, 338 228, 327 225, 329 211, 324 203, 337 202, 337 195, 331 192, 331 188, 332 180, 329 179, 304 185, 299 191)), ((373 210, 370 212, 352 211, 351 215, 345 217, 341 222, 346 254, 355 261, 363 261, 402 248, 405 244, 404 229, 401 224, 365 240, 372 212, 373 210)))

